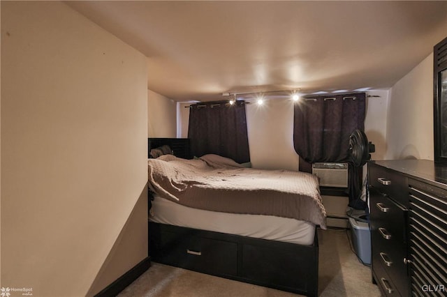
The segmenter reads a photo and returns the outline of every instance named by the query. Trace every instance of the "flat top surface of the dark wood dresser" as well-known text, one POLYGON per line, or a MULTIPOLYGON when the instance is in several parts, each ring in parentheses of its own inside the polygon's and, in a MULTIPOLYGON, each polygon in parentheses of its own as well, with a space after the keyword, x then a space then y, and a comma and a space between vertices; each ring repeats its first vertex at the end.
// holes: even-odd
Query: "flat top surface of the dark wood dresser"
POLYGON ((376 160, 370 163, 447 188, 447 165, 430 160, 376 160))

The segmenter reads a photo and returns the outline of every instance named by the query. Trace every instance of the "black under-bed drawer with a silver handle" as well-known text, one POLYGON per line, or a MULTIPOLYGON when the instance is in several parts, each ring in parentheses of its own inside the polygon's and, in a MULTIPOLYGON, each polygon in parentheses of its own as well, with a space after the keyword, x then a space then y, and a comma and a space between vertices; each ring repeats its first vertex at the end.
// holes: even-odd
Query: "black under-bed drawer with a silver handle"
POLYGON ((163 231, 151 250, 154 261, 213 275, 237 273, 237 243, 163 231))

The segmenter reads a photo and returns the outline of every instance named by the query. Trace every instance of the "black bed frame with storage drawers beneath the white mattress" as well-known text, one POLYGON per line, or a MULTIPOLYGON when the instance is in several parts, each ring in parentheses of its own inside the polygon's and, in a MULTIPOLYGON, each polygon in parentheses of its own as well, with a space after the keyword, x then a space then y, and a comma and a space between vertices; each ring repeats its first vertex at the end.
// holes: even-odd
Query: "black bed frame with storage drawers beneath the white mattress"
MULTIPOLYGON (((161 142, 151 143, 156 146, 149 150, 161 142)), ((312 245, 297 245, 149 222, 149 256, 161 264, 318 296, 316 231, 312 245)))

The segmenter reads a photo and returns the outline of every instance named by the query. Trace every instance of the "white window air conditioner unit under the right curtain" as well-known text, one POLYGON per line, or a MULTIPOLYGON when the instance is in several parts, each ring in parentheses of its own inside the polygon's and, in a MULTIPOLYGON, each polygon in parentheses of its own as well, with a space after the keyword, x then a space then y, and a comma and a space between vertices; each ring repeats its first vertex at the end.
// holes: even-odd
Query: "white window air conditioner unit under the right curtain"
POLYGON ((322 187, 348 188, 348 163, 317 162, 312 164, 312 174, 322 187))

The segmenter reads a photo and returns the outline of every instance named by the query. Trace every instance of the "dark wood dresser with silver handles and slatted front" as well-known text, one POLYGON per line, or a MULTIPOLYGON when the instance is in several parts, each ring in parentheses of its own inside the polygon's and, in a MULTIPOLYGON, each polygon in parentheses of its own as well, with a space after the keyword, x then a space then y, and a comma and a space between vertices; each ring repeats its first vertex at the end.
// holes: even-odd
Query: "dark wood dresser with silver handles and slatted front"
POLYGON ((383 296, 447 295, 447 166, 371 161, 372 277, 383 296))

